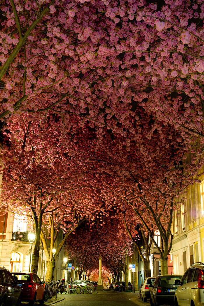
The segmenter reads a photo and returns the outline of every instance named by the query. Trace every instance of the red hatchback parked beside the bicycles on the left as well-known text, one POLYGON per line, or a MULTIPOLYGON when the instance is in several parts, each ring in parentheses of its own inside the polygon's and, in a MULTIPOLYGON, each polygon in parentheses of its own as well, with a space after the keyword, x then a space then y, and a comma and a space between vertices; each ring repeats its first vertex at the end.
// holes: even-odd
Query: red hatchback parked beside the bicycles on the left
POLYGON ((29 302, 29 305, 35 305, 35 301, 39 305, 43 305, 45 301, 44 281, 41 282, 35 273, 12 272, 17 284, 22 290, 22 301, 29 302))

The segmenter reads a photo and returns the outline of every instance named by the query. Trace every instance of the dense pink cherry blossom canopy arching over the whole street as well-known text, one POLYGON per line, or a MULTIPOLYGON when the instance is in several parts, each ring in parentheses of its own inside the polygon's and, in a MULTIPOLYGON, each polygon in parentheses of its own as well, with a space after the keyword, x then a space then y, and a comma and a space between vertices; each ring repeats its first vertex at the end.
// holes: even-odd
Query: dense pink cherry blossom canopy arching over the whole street
POLYGON ((134 203, 153 227, 145 199, 165 221, 202 174, 203 1, 0 10, 2 209, 49 202, 43 222, 56 211, 66 232, 72 211, 102 227, 134 203))

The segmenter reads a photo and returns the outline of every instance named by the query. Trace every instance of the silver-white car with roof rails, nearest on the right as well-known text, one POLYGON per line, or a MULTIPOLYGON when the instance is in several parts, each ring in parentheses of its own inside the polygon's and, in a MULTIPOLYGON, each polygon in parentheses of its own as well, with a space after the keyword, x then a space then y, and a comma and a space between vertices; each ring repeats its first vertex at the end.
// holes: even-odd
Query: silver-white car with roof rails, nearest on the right
POLYGON ((178 285, 174 297, 176 306, 204 305, 204 263, 193 263, 178 285))

